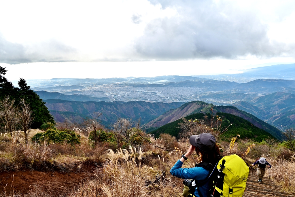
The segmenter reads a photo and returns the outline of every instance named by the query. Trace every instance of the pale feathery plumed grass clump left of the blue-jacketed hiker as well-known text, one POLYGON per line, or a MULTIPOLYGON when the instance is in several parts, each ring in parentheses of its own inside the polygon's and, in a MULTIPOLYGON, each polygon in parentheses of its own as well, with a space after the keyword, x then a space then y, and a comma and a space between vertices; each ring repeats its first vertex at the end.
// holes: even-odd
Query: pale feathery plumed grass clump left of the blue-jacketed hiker
MULTIPOLYGON (((130 147, 115 153, 108 150, 103 176, 84 183, 71 196, 179 196, 179 180, 161 170, 142 165, 144 152, 130 147)), ((160 161, 160 159, 159 159, 160 161)))

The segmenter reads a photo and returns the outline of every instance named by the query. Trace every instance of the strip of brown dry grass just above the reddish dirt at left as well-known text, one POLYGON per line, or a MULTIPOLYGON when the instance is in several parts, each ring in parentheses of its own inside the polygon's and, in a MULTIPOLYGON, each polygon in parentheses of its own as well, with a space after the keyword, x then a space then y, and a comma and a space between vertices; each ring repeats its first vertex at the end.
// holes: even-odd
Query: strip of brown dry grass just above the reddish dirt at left
POLYGON ((81 171, 83 162, 101 165, 106 158, 107 147, 87 143, 75 147, 63 144, 0 142, 0 172, 9 170, 48 169, 61 172, 81 171))

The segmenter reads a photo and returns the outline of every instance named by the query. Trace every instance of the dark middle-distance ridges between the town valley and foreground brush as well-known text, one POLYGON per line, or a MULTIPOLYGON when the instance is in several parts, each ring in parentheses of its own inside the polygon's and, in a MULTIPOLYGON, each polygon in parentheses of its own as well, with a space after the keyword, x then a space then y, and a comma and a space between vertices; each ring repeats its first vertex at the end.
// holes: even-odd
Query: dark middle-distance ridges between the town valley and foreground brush
MULTIPOLYGON (((238 116, 250 122, 255 128, 258 127, 271 134, 273 137, 280 140, 282 139, 282 134, 279 129, 234 106, 214 106, 213 104, 207 104, 202 101, 192 101, 189 103, 150 103, 145 101, 81 102, 57 99, 44 101, 56 122, 63 122, 67 119, 73 123, 82 123, 84 119, 91 118, 94 112, 101 112, 99 120, 106 127, 109 127, 118 118, 141 119, 142 128, 147 131, 153 131, 165 124, 179 121, 180 118, 189 115, 201 113, 203 114, 202 116, 204 116, 204 114, 211 116, 210 109, 213 107, 214 114, 227 113, 238 116)), ((229 117, 227 117, 227 119, 229 119, 229 117)), ((239 122, 241 122, 241 120, 239 120, 239 122)), ((267 135, 264 135, 264 137, 266 136, 267 135)))

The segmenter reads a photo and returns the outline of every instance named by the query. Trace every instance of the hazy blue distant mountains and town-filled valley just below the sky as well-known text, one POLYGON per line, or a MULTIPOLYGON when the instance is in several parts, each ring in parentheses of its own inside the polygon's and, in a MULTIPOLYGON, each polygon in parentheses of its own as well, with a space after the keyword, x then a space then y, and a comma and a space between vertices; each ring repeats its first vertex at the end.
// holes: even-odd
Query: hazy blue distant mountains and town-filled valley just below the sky
MULTIPOLYGON (((294 69, 295 64, 287 64, 243 70, 243 73, 239 75, 240 79, 245 79, 246 83, 240 83, 240 81, 234 81, 231 78, 227 78, 227 80, 222 78, 220 81, 220 78, 216 80, 217 78, 212 78, 209 75, 107 79, 55 78, 28 81, 28 83, 34 87, 32 89, 43 100, 148 101, 153 103, 204 101, 217 106, 231 105, 285 130, 295 125, 295 114, 293 113, 295 80, 286 80, 294 79, 295 75, 292 75, 294 69), (251 76, 253 80, 249 81, 251 76), (256 77, 260 77, 260 79, 256 79, 256 77)), ((70 116, 65 113, 74 112, 55 113, 64 113, 63 116, 70 116)), ((81 117, 84 115, 87 114, 81 114, 81 117)))

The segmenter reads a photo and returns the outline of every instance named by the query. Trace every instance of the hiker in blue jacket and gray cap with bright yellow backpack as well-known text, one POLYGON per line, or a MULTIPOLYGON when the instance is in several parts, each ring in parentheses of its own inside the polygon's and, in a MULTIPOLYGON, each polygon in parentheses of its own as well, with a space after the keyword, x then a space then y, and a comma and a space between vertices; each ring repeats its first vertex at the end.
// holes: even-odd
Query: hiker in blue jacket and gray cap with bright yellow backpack
POLYGON ((237 155, 220 156, 219 146, 210 133, 192 135, 189 150, 171 168, 170 173, 183 178, 183 196, 242 197, 249 168, 237 155), (181 168, 196 150, 200 162, 194 168, 181 168))

